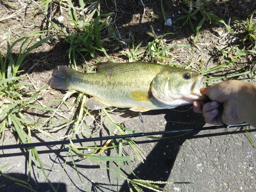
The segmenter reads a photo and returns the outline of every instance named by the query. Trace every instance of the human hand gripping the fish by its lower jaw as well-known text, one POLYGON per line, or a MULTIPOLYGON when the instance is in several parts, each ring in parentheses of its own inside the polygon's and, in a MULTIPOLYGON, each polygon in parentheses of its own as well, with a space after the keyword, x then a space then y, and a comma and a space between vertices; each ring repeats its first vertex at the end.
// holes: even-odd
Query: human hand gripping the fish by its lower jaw
POLYGON ((237 124, 241 119, 240 90, 242 81, 229 80, 203 88, 200 92, 211 100, 194 101, 193 110, 202 113, 205 122, 209 124, 237 124), (239 94, 238 94, 239 93, 239 94))

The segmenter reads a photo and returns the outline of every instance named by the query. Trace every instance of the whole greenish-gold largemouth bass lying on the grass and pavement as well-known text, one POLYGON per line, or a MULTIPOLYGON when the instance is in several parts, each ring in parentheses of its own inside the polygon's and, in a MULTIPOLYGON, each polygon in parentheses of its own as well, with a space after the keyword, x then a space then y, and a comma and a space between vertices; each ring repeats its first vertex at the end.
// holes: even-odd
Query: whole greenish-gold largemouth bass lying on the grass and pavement
POLYGON ((85 103, 90 110, 114 106, 146 112, 205 99, 200 93, 205 78, 194 70, 157 63, 102 62, 94 73, 59 66, 53 70, 48 84, 54 89, 90 95, 85 103))

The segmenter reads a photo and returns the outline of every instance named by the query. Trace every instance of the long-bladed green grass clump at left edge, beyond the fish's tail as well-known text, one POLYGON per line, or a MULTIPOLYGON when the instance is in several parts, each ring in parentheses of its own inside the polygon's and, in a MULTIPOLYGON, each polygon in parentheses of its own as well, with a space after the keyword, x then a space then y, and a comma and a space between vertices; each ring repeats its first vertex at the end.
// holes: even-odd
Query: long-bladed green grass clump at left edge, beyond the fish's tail
MULTIPOLYGON (((1 70, 0 70, 0 101, 1 101, 1 108, 0 108, 0 132, 2 137, 2 144, 4 143, 4 136, 5 136, 5 129, 8 127, 13 132, 16 132, 18 135, 17 142, 21 143, 31 143, 31 130, 37 129, 38 123, 32 122, 24 116, 24 112, 27 109, 38 109, 38 110, 47 110, 53 111, 55 109, 46 108, 43 106, 38 106, 33 104, 36 97, 38 96, 39 92, 48 88, 48 86, 42 87, 39 91, 35 93, 24 91, 26 90, 27 86, 32 86, 31 83, 25 83, 20 81, 24 77, 19 76, 20 72, 19 67, 22 64, 24 58, 35 48, 40 46, 42 43, 46 42, 48 39, 52 38, 52 36, 42 39, 36 42, 34 45, 32 44, 34 36, 41 36, 45 35, 45 31, 40 31, 28 35, 26 37, 20 38, 13 42, 10 45, 10 31, 7 38, 7 53, 6 57, 3 58, 2 54, 0 54, 0 63, 1 63, 1 70), (14 59, 12 56, 12 48, 21 43, 19 49, 19 55, 17 59, 14 59)), ((48 180, 50 185, 53 187, 52 183, 48 179, 45 173, 45 167, 35 148, 28 148, 27 151, 29 152, 29 175, 30 178, 31 174, 31 162, 34 159, 35 162, 38 162, 42 173, 44 174, 45 178, 48 180)), ((37 163, 35 163, 37 175, 38 175, 38 167, 37 163)), ((53 187, 54 188, 54 187, 53 187)))

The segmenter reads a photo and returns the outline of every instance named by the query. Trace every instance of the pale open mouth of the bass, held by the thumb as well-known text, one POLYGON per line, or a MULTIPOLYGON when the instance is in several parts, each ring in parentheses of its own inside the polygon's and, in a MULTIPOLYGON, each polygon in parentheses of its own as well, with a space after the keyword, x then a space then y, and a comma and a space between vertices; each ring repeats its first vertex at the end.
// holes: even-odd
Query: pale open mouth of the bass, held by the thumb
POLYGON ((203 87, 203 82, 205 79, 206 79, 205 76, 200 75, 194 83, 190 84, 189 86, 190 88, 188 88, 188 90, 190 90, 190 94, 189 94, 190 99, 195 99, 195 100, 207 99, 207 97, 205 95, 202 95, 200 92, 200 89, 203 87))

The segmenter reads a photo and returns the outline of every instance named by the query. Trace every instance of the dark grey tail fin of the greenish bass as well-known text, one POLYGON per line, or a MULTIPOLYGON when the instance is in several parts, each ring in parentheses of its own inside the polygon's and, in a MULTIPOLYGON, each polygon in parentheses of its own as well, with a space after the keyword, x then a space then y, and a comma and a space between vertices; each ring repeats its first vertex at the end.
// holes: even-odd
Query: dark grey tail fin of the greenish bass
POLYGON ((52 78, 48 81, 48 85, 54 89, 68 90, 69 77, 76 72, 76 70, 69 67, 56 67, 53 70, 52 78))

